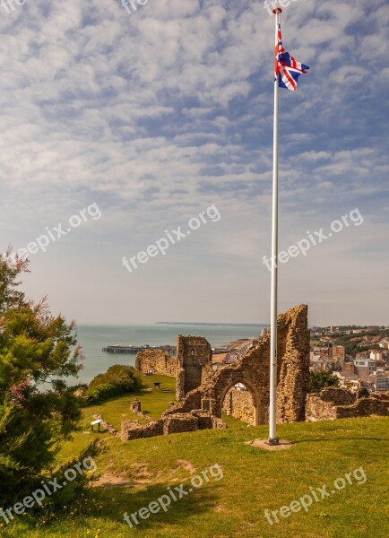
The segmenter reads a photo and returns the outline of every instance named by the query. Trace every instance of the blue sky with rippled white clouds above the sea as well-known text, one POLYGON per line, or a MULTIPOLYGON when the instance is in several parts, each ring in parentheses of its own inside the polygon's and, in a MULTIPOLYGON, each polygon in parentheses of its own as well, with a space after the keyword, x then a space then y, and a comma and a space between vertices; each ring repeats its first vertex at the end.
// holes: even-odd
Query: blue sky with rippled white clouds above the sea
MULTIPOLYGON (((268 323, 274 16, 133 4, 1 3, 0 251, 29 246, 23 289, 81 325, 268 323)), ((281 15, 310 69, 280 90, 278 309, 310 325, 389 325, 388 22, 281 15)))

